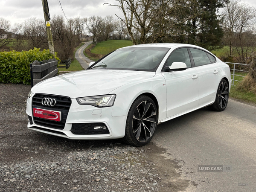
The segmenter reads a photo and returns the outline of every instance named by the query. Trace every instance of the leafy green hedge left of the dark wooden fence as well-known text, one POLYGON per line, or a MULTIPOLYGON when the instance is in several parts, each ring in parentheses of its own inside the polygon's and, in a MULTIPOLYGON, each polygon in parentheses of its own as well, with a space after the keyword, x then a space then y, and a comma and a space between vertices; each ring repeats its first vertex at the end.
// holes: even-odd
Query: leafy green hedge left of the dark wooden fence
POLYGON ((29 64, 35 60, 43 61, 49 58, 53 58, 53 55, 46 49, 0 52, 0 83, 30 84, 29 64))

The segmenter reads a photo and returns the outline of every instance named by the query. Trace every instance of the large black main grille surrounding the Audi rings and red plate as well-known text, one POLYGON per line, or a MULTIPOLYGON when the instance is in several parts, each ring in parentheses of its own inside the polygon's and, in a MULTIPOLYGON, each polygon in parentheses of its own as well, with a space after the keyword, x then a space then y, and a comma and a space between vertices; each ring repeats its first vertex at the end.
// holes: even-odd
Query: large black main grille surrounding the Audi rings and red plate
POLYGON ((33 99, 32 99, 32 112, 33 112, 33 108, 41 108, 41 109, 61 112, 61 121, 59 122, 33 116, 35 124, 41 125, 44 127, 49 127, 49 128, 64 129, 65 123, 67 120, 67 114, 70 109, 70 105, 71 105, 71 99, 69 97, 48 95, 48 94, 35 94, 35 96, 33 96, 33 99), (43 105, 42 99, 44 97, 55 99, 56 105, 53 107, 48 105, 47 106, 43 105))

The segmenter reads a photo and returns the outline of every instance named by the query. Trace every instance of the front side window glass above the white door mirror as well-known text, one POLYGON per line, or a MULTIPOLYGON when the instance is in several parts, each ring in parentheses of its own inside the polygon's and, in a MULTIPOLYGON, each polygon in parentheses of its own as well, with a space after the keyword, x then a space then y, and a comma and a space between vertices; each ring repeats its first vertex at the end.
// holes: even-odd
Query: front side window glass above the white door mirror
POLYGON ((173 62, 183 62, 186 64, 187 68, 191 67, 191 62, 189 58, 189 52, 187 48, 181 48, 175 50, 172 55, 167 60, 167 66, 172 66, 173 62))

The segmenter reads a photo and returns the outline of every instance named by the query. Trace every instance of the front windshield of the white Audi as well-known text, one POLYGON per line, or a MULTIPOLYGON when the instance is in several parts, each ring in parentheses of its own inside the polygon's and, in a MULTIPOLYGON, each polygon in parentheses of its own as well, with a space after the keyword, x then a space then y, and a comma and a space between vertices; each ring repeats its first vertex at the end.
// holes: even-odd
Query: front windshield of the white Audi
POLYGON ((154 71, 170 48, 128 47, 118 49, 91 69, 154 71))

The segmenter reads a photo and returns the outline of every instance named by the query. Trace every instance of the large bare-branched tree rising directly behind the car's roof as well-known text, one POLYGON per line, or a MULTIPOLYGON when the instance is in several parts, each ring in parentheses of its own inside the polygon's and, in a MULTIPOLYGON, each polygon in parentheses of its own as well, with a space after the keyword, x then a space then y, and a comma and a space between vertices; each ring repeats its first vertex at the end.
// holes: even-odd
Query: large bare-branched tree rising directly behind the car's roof
POLYGON ((123 17, 117 16, 127 27, 133 44, 170 41, 177 35, 176 26, 185 23, 195 15, 187 15, 186 10, 196 0, 116 0, 123 17), (181 17, 183 15, 184 17, 181 17))

